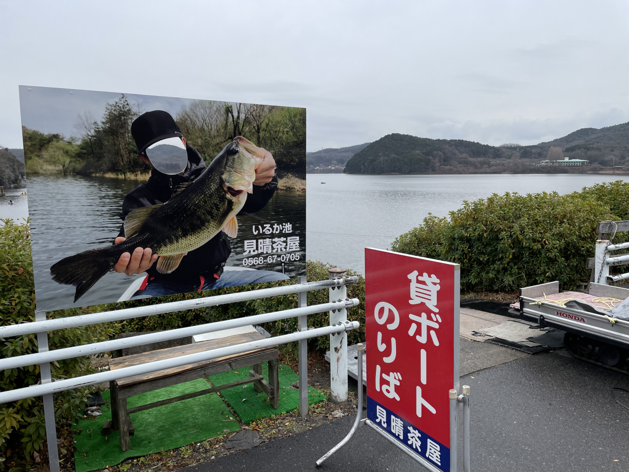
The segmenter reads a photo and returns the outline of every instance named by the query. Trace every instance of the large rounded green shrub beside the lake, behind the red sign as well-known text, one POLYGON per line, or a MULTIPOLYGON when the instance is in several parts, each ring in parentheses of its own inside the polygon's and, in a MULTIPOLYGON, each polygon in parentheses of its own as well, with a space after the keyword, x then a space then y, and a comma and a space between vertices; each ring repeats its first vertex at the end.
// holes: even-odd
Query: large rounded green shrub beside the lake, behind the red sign
MULTIPOLYGON (((465 289, 513 290, 559 281, 576 288, 589 279, 596 225, 629 219, 629 183, 597 184, 568 195, 493 194, 465 201, 450 218, 428 215, 391 249, 461 264, 465 289)), ((615 242, 625 240, 618 235, 615 242)))

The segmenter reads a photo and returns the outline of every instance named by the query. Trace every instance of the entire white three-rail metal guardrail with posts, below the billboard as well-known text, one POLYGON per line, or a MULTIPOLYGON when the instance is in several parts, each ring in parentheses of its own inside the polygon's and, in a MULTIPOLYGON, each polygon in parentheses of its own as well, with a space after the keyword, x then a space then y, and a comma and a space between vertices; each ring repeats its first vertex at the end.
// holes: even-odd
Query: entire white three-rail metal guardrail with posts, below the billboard
MULTIPOLYGON (((311 337, 330 335, 330 344, 339 343, 347 346, 347 331, 357 329, 359 322, 349 322, 347 320, 347 308, 359 305, 357 298, 347 298, 345 285, 357 283, 358 277, 343 277, 343 269, 330 271, 330 279, 318 282, 306 283, 305 277, 299 278, 299 283, 260 290, 252 290, 226 295, 210 296, 198 298, 196 300, 175 301, 172 303, 162 303, 160 305, 140 306, 136 308, 125 308, 112 312, 94 313, 91 315, 79 315, 67 318, 46 319, 45 312, 35 312, 35 322, 22 323, 19 325, 0 326, 0 340, 25 334, 37 334, 38 352, 23 356, 0 359, 0 370, 20 368, 39 364, 42 381, 40 385, 31 385, 23 388, 0 392, 0 404, 15 402, 25 398, 43 396, 43 406, 46 421, 46 435, 48 442, 48 456, 50 458, 50 470, 58 472, 60 470, 57 450, 57 427, 55 425, 55 413, 53 407, 53 393, 72 390, 83 386, 96 385, 114 379, 125 378, 138 374, 147 374, 160 371, 162 369, 174 368, 191 364, 194 362, 206 361, 215 357, 230 356, 241 352, 252 351, 263 347, 279 346, 288 342, 299 342, 299 413, 305 416, 308 413, 308 359, 306 340, 311 337), (306 293, 312 290, 330 290, 330 303, 308 306, 306 303, 306 293), (282 310, 279 312, 264 313, 262 315, 252 315, 249 317, 236 318, 214 323, 207 323, 189 328, 179 328, 152 334, 144 334, 125 339, 109 340, 86 344, 84 346, 67 347, 55 351, 48 350, 48 331, 58 329, 68 329, 79 326, 93 325, 98 323, 116 322, 131 318, 140 318, 162 313, 180 312, 191 310, 192 308, 203 308, 207 306, 225 305, 238 301, 255 300, 268 298, 277 295, 287 295, 298 293, 298 308, 282 310), (308 315, 314 313, 330 312, 330 325, 320 328, 308 329, 308 315), (339 318, 339 315, 342 317, 339 318), (89 356, 101 352, 113 351, 124 347, 141 346, 152 342, 179 339, 196 334, 215 332, 235 327, 242 327, 252 324, 285 320, 287 318, 298 318, 298 330, 291 334, 271 337, 269 339, 245 342, 234 346, 213 349, 186 356, 173 357, 162 361, 148 362, 127 368, 105 371, 95 374, 88 374, 70 379, 52 379, 50 375, 50 362, 62 359, 71 359, 79 356, 89 356)), ((347 352, 345 352, 347 357, 347 352)), ((331 396, 333 398, 347 399, 347 359, 335 358, 334 361, 340 367, 345 367, 345 373, 340 377, 345 378, 345 382, 334 381, 332 379, 331 396), (343 388, 345 391, 343 391, 343 388)), ((332 372, 337 372, 336 366, 331 366, 332 372)))

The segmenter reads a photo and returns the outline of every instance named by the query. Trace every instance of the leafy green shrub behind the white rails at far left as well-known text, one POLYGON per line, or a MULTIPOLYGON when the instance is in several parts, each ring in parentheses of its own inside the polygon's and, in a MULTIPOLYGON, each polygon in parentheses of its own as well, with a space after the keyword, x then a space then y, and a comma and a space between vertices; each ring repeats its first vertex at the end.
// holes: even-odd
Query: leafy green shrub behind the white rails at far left
MULTIPOLYGON (((28 222, 19 225, 13 220, 0 220, 0 325, 14 325, 35 321, 35 292, 33 263, 28 222)), ((66 317, 97 311, 88 309, 62 310, 48 313, 48 317, 66 317)), ((98 325, 57 330, 48 334, 48 346, 53 349, 79 346, 108 339, 112 330, 98 325)), ((0 338, 0 357, 23 356, 38 352, 35 334, 0 338)), ((93 372, 86 357, 52 362, 52 377, 64 379, 93 372)), ((15 390, 35 385, 40 380, 39 366, 7 369, 0 376, 0 391, 15 390)), ((53 396, 57 424, 74 419, 86 405, 86 388, 69 390, 53 396)), ((0 457, 16 458, 23 452, 42 449, 45 441, 45 422, 42 398, 26 398, 0 405, 0 457)), ((8 461, 0 461, 0 469, 8 461)))

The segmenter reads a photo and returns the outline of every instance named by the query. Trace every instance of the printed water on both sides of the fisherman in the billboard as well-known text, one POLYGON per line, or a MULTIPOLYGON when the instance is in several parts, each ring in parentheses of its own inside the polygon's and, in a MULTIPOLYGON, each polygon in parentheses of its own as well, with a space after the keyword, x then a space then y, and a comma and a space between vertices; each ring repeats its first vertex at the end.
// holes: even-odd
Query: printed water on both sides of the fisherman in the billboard
MULTIPOLYGON (((118 215, 123 199, 137 185, 137 181, 80 176, 29 178, 31 240, 38 310, 50 311, 118 300, 133 278, 109 272, 72 305, 74 286, 52 281, 50 266, 64 257, 84 250, 113 244, 122 224, 118 215)), ((284 270, 289 276, 303 275, 306 256, 304 200, 304 194, 278 191, 259 213, 238 216, 238 237, 231 242, 232 254, 227 265, 243 266, 247 262, 253 262, 249 260, 251 254, 245 256, 247 241, 255 244, 255 249, 250 249, 251 253, 257 250, 258 239, 274 241, 298 237, 301 242, 299 250, 293 251, 293 257, 299 257, 301 265, 299 261, 287 261, 284 270), (253 234, 254 227, 262 228, 264 233, 265 225, 271 228, 270 235, 253 234), (277 231, 280 227, 281 231, 277 231), (243 263, 245 258, 248 260, 243 263)), ((255 256, 259 257, 258 254, 255 256)), ((247 265, 255 269, 282 271, 279 259, 268 264, 267 258, 268 254, 265 254, 264 263, 257 259, 255 264, 247 265)), ((134 278, 138 277, 140 276, 134 278)))

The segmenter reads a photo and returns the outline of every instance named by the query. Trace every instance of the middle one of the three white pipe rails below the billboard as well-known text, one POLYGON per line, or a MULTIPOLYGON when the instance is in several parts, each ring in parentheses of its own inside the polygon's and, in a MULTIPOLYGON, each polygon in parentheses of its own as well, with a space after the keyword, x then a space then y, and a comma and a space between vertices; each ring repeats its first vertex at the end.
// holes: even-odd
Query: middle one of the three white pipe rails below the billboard
MULTIPOLYGON (((277 320, 286 320, 286 318, 297 317, 299 315, 314 315, 315 313, 328 312, 330 310, 340 310, 350 306, 359 305, 358 298, 346 298, 343 301, 335 301, 334 303, 323 303, 321 305, 311 305, 305 308, 291 308, 282 310, 281 312, 263 313, 261 315, 252 315, 247 318, 235 318, 233 320, 223 320, 204 325, 192 326, 187 328, 178 328, 164 332, 142 334, 124 339, 114 339, 110 341, 94 342, 84 346, 65 347, 63 349, 55 349, 55 351, 35 352, 34 354, 25 354, 24 356, 9 357, 8 359, 0 359, 0 371, 4 369, 14 369, 24 366, 32 366, 42 362, 60 361, 62 359, 72 359, 72 357, 92 356, 99 352, 109 352, 115 349, 123 349, 131 346, 143 346, 152 342, 166 341, 170 339, 179 339, 186 336, 194 336, 197 334, 221 331, 224 329, 238 328, 247 325, 259 325, 277 320)), ((345 317, 347 318, 347 317, 345 317)))

